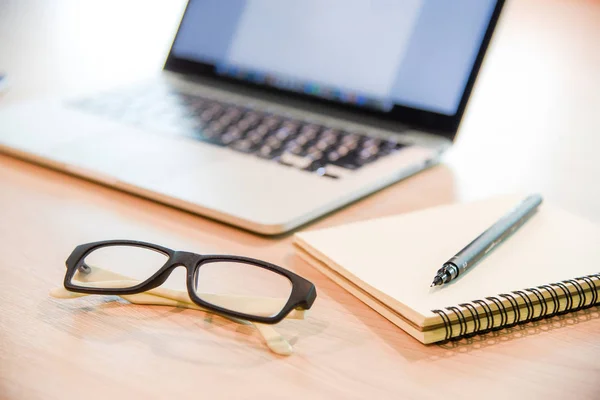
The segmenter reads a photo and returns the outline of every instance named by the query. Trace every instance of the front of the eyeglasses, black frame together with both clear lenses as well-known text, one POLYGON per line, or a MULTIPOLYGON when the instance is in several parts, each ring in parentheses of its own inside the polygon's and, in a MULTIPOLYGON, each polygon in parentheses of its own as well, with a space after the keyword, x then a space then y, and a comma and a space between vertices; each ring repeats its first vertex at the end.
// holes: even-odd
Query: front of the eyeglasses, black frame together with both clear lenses
POLYGON ((308 310, 317 297, 311 282, 265 261, 174 251, 138 241, 82 244, 66 264, 68 291, 117 296, 155 289, 184 267, 182 279, 194 304, 263 324, 275 324, 294 310, 308 310))

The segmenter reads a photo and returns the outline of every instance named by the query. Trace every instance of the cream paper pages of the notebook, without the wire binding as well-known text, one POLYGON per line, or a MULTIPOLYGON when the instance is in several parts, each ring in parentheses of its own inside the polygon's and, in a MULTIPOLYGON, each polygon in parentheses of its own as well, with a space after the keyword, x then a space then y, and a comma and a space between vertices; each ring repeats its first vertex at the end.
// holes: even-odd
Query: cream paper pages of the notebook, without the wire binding
POLYGON ((295 244, 315 267, 428 343, 439 340, 441 333, 424 339, 419 332, 443 323, 432 310, 600 271, 600 228, 544 202, 476 267, 448 285, 430 288, 445 261, 524 197, 300 232, 295 244))

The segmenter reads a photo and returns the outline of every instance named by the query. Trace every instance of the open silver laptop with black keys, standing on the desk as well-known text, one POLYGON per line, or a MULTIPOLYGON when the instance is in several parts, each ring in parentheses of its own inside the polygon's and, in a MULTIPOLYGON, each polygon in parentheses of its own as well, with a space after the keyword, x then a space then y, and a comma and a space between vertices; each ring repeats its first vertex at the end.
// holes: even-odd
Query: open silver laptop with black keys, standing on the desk
POLYGON ((497 0, 191 0, 159 76, 0 110, 0 151, 265 235, 436 164, 497 0))

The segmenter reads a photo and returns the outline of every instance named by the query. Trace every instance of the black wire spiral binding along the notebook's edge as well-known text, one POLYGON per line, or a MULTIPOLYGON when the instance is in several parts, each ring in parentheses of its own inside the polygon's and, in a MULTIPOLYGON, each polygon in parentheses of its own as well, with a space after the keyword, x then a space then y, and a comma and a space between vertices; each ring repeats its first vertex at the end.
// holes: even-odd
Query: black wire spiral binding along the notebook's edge
POLYGON ((525 290, 516 290, 510 294, 503 293, 497 297, 486 297, 485 300, 473 300, 458 306, 446 307, 444 310, 432 310, 432 312, 442 318, 446 329, 444 340, 459 339, 592 307, 599 303, 599 292, 600 273, 525 290), (567 285, 571 285, 576 293, 569 290, 567 285), (546 298, 545 295, 550 298, 546 298), (579 299, 577 304, 574 301, 575 295, 579 299), (564 302, 565 299, 566 304, 561 310, 561 300, 564 302), (509 308, 505 306, 503 300, 510 303, 509 308), (524 305, 527 309, 524 318, 522 318, 519 300, 522 301, 521 306, 524 305), (534 307, 537 304, 541 305, 539 313, 534 307), (480 308, 479 312, 477 307, 480 308), (513 318, 509 316, 510 311, 514 312, 513 318), (495 326, 495 318, 498 316, 500 321, 498 321, 498 326, 495 326), (482 320, 485 321, 485 327, 482 320), (473 323, 472 329, 469 329, 470 322, 473 323), (458 325, 458 332, 453 329, 453 326, 456 327, 456 325, 458 325))

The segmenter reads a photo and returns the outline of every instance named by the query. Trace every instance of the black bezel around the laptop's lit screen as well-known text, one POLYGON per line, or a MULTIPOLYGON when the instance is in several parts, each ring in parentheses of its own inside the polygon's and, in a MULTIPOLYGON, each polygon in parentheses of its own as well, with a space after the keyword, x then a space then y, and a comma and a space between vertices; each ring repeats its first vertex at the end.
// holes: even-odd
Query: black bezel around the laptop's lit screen
POLYGON ((223 81, 227 82, 228 84, 239 85, 240 87, 244 87, 247 89, 251 88, 253 90, 256 90, 257 92, 278 94, 284 97, 288 97, 290 99, 310 101, 315 105, 327 106, 328 108, 333 108, 340 112, 349 112, 354 115, 358 114, 370 120, 382 120, 382 122, 385 122, 388 126, 390 124, 397 123, 399 126, 409 126, 413 129, 431 132, 453 140, 456 136, 456 132, 458 131, 460 121, 465 112, 469 97, 473 90, 473 86, 475 85, 475 81, 483 63, 484 56, 489 47, 493 32, 498 23, 500 13, 504 5, 504 1, 505 0, 496 0, 496 6, 494 7, 494 11, 492 12, 483 40, 481 41, 477 57, 475 58, 473 68, 471 69, 471 72, 469 74, 469 78, 467 80, 465 89, 460 99, 458 109, 454 115, 440 114, 428 110, 401 105, 395 105, 392 111, 383 113, 372 109, 352 106, 333 100, 327 100, 320 97, 311 96, 304 93, 298 93, 291 90, 260 85, 253 82, 242 81, 232 77, 223 76, 217 74, 215 66, 212 64, 177 57, 173 52, 173 47, 175 42, 177 41, 177 36, 179 35, 181 29, 181 23, 186 18, 189 2, 186 5, 185 11, 182 15, 179 24, 179 28, 177 30, 177 34, 175 35, 175 38, 171 44, 169 55, 167 56, 166 62, 164 64, 164 70, 178 74, 205 77, 210 78, 211 80, 223 81))

